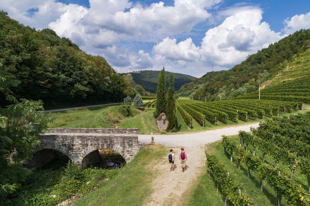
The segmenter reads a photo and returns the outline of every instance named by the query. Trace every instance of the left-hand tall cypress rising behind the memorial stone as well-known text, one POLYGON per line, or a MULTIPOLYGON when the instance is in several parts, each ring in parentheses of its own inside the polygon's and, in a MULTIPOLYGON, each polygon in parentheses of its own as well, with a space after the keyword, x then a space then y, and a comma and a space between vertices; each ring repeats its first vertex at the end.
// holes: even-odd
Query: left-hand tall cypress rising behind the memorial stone
MULTIPOLYGON (((160 71, 158 76, 158 85, 156 91, 156 110, 154 111, 154 117, 157 118, 160 113, 166 113, 166 76, 165 67, 160 71)), ((169 121, 169 120, 168 120, 169 121)))

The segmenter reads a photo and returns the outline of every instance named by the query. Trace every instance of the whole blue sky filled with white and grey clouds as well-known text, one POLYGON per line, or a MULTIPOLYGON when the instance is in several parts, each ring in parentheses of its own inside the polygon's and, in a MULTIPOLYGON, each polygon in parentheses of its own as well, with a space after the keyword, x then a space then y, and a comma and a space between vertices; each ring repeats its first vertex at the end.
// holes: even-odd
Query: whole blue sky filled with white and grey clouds
POLYGON ((50 28, 118 73, 201 77, 310 28, 309 0, 0 0, 0 10, 50 28))

